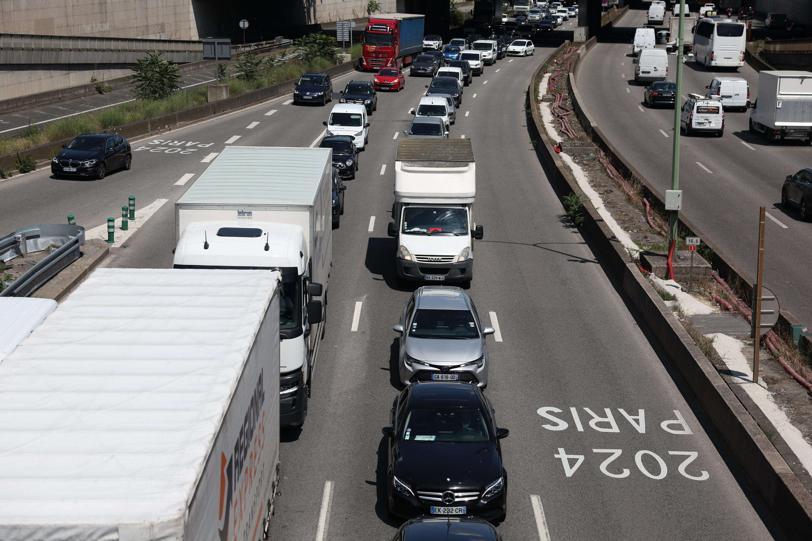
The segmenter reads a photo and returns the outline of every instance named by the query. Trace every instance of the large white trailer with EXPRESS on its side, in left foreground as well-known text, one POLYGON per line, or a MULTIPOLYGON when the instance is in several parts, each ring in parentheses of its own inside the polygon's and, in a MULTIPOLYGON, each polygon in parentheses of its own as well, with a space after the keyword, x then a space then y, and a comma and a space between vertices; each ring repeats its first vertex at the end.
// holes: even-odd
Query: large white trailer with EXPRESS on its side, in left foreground
POLYGON ((0 362, 0 539, 259 541, 278 366, 278 272, 93 272, 0 362))

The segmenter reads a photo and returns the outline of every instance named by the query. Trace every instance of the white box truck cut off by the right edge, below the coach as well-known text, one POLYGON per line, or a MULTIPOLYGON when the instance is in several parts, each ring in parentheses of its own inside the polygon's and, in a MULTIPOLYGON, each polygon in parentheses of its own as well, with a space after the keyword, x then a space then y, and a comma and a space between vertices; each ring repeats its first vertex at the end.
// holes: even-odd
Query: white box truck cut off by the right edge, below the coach
POLYGON ((767 141, 797 139, 812 144, 812 72, 759 71, 749 128, 763 133, 767 141))

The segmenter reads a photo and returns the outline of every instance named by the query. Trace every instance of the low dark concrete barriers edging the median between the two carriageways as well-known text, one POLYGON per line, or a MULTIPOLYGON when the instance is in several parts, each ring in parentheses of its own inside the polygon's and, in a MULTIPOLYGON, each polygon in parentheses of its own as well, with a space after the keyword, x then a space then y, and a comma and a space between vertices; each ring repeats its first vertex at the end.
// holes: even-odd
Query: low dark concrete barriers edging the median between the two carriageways
MULTIPOLYGON (((588 41, 581 47, 577 58, 572 63, 568 81, 572 104, 577 110, 578 118, 581 120, 583 128, 593 137, 596 145, 602 148, 607 157, 611 159, 613 165, 620 166, 621 174, 628 175, 629 172, 636 174, 637 179, 648 190, 648 193, 644 193, 644 197, 654 197, 654 201, 662 208, 663 203, 659 201, 659 195, 654 193, 653 188, 650 188, 650 184, 646 183, 639 172, 616 152, 608 139, 600 132, 597 124, 592 123, 589 115, 578 105, 573 75, 577 76, 577 64, 592 47, 594 47, 594 41, 591 44, 588 41)), ((542 72, 542 67, 562 50, 564 50, 563 47, 559 47, 559 50, 556 50, 542 63, 542 66, 533 74, 531 81, 535 81, 542 72)), ((583 196, 577 181, 572 178, 568 168, 555 153, 553 149, 555 142, 549 141, 546 130, 542 128, 538 108, 533 99, 534 93, 535 90, 531 83, 526 98, 530 111, 527 125, 530 138, 538 141, 538 145, 536 145, 538 156, 546 163, 551 182, 559 197, 564 197, 569 193, 583 196)), ((663 345, 663 351, 667 353, 685 378, 698 403, 702 405, 702 409, 705 410, 727 444, 737 465, 758 491, 758 495, 761 496, 767 509, 775 516, 784 533, 792 539, 809 539, 810 531, 812 531, 812 496, 803 487, 797 475, 781 453, 776 450, 770 439, 767 439, 758 422, 754 420, 754 416, 749 413, 746 403, 739 400, 711 361, 708 361, 702 351, 693 343, 693 339, 667 308, 659 294, 654 291, 648 280, 643 278, 634 262, 630 261, 628 253, 590 205, 589 199, 584 198, 587 202, 584 205, 585 221, 581 230, 593 241, 594 248, 597 249, 603 264, 620 283, 620 287, 640 312, 642 319, 649 325, 653 335, 663 345)), ((689 228, 692 232, 702 236, 697 228, 685 220, 680 223, 680 227, 689 228)), ((712 245, 711 248, 715 249, 712 245)), ((724 263, 728 272, 735 272, 736 266, 728 263, 729 261, 721 251, 715 252, 713 262, 715 268, 719 268, 717 266, 719 263, 724 263)), ((749 404, 749 406, 751 409, 755 407, 753 404, 749 404)), ((758 413, 756 414, 758 415, 758 413)), ((758 418, 763 418, 763 416, 758 416, 758 418)))

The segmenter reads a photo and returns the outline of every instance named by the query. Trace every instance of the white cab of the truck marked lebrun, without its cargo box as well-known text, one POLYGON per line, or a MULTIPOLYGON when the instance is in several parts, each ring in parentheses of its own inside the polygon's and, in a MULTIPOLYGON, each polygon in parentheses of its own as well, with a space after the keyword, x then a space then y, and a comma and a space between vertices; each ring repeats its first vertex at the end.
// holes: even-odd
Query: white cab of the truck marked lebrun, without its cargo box
POLYGON ((282 274, 279 302, 279 413, 282 426, 304 422, 313 359, 312 326, 322 321, 322 284, 309 275, 302 227, 289 223, 192 222, 175 248, 175 269, 274 269, 282 274))

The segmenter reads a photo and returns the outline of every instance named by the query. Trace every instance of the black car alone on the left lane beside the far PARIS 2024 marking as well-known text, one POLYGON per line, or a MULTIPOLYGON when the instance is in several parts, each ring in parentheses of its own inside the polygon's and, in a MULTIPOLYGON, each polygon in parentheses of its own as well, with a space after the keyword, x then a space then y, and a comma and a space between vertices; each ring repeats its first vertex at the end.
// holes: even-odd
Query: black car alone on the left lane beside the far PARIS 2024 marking
POLYGON ((102 180, 107 171, 132 167, 130 143, 114 133, 84 133, 51 160, 54 175, 89 176, 102 180))

